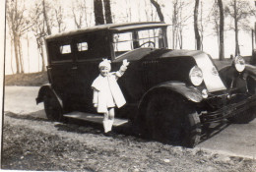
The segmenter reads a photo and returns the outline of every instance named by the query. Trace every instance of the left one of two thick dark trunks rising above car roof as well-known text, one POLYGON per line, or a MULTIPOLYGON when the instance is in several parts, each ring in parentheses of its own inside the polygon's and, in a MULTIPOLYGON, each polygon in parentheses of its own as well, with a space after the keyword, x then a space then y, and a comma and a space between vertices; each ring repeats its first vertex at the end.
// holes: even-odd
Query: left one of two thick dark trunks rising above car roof
POLYGON ((101 0, 94 0, 96 26, 104 24, 103 6, 101 0))

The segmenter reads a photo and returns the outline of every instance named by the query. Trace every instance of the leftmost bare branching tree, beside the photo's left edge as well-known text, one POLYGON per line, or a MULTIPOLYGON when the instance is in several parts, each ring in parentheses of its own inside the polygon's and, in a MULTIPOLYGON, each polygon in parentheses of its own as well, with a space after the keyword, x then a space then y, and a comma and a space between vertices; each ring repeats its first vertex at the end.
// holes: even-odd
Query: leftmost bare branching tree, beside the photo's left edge
POLYGON ((32 26, 26 19, 25 1, 7 1, 7 22, 10 29, 11 39, 14 44, 17 74, 24 73, 21 37, 32 26))

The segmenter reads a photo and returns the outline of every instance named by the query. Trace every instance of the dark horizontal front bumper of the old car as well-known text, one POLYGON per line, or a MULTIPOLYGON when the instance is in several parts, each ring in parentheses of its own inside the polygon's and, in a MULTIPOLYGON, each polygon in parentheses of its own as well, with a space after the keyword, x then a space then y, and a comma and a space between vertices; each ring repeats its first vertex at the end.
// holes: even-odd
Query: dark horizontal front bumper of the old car
POLYGON ((200 116, 200 120, 202 124, 220 122, 225 118, 242 113, 253 106, 256 106, 256 95, 249 96, 235 103, 226 104, 216 111, 203 112, 200 116))

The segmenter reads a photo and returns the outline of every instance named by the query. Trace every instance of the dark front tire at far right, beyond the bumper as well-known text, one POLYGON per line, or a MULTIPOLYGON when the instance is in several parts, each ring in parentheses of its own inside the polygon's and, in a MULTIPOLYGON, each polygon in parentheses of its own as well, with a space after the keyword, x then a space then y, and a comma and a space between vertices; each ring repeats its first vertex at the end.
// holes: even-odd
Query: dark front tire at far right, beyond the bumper
POLYGON ((250 108, 242 113, 235 114, 234 116, 227 118, 227 120, 235 124, 248 124, 255 119, 255 110, 256 108, 250 108))

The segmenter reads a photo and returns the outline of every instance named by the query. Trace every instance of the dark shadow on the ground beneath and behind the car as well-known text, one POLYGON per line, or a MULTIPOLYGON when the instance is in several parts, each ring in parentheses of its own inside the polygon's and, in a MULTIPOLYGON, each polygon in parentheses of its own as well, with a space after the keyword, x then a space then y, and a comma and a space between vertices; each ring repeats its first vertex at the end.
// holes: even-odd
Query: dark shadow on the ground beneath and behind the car
MULTIPOLYGON (((43 110, 42 110, 43 111, 43 110)), ((42 111, 36 111, 29 114, 19 115, 12 112, 6 112, 5 115, 15 119, 31 120, 31 121, 43 121, 52 123, 52 121, 47 120, 44 116, 38 115, 42 114, 42 111), (37 114, 37 115, 35 115, 37 114)), ((54 127, 58 131, 64 131, 69 133, 78 133, 78 134, 93 134, 93 135, 103 135, 103 127, 101 124, 87 122, 83 120, 77 120, 73 118, 65 118, 63 122, 53 122, 54 127)), ((202 136, 200 143, 203 143, 219 133, 221 133, 225 128, 230 125, 227 121, 220 123, 213 123, 211 125, 205 125, 202 129, 202 136)), ((124 137, 134 137, 135 140, 140 140, 140 142, 149 142, 150 139, 142 138, 138 132, 138 127, 133 123, 128 122, 119 127, 113 127, 113 133, 108 136, 113 139, 115 138, 124 138, 124 137)))

